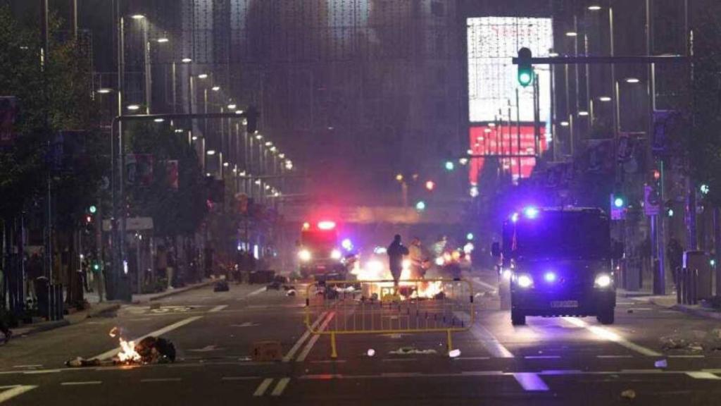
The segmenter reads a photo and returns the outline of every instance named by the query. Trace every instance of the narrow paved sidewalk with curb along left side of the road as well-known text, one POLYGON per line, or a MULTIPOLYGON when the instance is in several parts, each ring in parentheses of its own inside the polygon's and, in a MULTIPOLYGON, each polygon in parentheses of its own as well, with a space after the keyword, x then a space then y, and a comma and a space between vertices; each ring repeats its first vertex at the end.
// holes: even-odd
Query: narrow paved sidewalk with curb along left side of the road
MULTIPOLYGON (((149 293, 146 295, 133 295, 133 302, 134 304, 138 303, 147 303, 150 301, 157 301, 162 298, 167 298, 168 296, 172 295, 178 295, 180 293, 187 292, 188 290, 194 290, 198 288, 203 288, 208 285, 212 285, 215 280, 203 280, 203 282, 195 283, 193 285, 187 285, 184 288, 175 288, 166 290, 164 292, 160 293, 149 293)), ((82 311, 75 311, 72 314, 66 314, 65 317, 62 320, 56 320, 56 321, 41 321, 40 323, 34 323, 34 324, 26 324, 22 327, 17 327, 15 329, 12 329, 12 333, 14 337, 21 337, 21 336, 28 336, 31 334, 36 334, 39 332, 45 332, 52 329, 57 329, 59 327, 65 327, 69 326, 71 324, 78 324, 82 321, 85 321, 87 319, 92 319, 93 317, 100 316, 102 314, 112 313, 113 311, 118 311, 120 306, 123 306, 124 302, 120 301, 99 301, 99 296, 97 293, 85 293, 84 298, 89 303, 89 308, 82 310, 82 311)))

